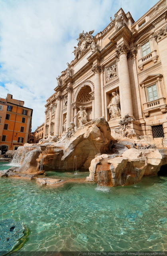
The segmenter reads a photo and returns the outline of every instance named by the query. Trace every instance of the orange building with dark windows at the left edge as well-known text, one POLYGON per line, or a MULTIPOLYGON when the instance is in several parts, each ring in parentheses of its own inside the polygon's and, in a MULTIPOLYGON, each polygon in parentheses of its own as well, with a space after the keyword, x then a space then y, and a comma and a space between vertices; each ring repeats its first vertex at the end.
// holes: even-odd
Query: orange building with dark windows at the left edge
POLYGON ((6 106, 5 119, 1 122, 3 131, 0 138, 0 150, 4 153, 8 150, 16 150, 27 143, 33 110, 24 107, 24 101, 13 99, 11 94, 8 94, 6 99, 0 98, 0 102, 1 105, 6 106))

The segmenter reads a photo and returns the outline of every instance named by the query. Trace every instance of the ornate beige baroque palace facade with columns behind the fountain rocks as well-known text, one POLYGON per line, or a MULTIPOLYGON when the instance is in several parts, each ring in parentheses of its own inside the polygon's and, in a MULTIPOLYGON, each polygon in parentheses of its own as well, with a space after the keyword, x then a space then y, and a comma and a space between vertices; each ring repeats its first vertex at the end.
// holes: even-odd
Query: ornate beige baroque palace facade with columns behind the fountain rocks
POLYGON ((166 0, 136 22, 121 8, 102 32, 93 32, 79 34, 74 60, 57 78, 45 105, 44 136, 104 116, 112 131, 126 117, 131 135, 147 135, 155 144, 166 139, 166 0))

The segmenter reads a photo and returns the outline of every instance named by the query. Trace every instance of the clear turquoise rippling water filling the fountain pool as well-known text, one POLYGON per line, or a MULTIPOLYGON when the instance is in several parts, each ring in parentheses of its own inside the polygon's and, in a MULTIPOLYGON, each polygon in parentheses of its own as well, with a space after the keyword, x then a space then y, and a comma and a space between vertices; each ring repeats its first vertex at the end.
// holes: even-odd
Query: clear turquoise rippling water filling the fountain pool
POLYGON ((46 188, 0 178, 0 220, 21 220, 29 229, 19 251, 163 251, 166 195, 167 177, 103 190, 94 183, 46 188))

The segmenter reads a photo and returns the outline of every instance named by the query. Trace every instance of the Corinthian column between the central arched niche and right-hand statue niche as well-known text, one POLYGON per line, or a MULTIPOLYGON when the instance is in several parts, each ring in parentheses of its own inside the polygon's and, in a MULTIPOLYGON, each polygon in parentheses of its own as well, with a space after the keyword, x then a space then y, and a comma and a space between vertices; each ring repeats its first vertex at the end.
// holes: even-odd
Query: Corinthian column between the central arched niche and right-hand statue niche
POLYGON ((102 116, 102 97, 101 97, 101 86, 100 86, 100 73, 102 67, 96 64, 92 71, 94 72, 94 118, 102 116))

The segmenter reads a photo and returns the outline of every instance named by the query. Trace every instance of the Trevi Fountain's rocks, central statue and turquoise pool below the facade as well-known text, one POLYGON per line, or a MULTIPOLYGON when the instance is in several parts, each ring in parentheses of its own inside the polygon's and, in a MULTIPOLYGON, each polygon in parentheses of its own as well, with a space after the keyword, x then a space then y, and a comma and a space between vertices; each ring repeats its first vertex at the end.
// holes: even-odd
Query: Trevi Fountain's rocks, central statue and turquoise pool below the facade
POLYGON ((0 255, 167 250, 167 148, 139 138, 128 115, 112 135, 104 117, 77 118, 0 162, 0 255))

